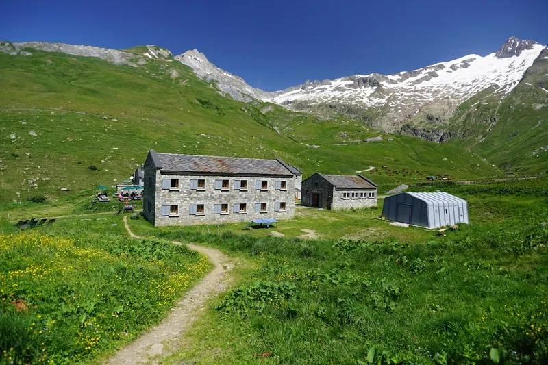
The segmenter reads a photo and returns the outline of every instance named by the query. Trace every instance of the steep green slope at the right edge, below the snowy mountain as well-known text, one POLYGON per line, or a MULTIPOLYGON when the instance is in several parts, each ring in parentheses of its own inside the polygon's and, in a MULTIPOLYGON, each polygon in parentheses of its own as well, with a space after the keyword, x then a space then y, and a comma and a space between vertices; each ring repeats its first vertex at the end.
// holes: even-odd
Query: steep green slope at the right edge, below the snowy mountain
POLYGON ((453 145, 466 146, 493 164, 512 171, 548 171, 548 49, 519 84, 500 102, 493 90, 462 103, 450 121, 458 135, 453 145))

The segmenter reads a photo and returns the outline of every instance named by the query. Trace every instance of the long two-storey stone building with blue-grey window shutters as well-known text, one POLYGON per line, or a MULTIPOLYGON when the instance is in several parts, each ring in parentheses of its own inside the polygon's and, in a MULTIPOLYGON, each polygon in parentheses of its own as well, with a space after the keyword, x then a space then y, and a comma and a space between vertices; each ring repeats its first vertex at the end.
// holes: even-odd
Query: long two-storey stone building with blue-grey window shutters
POLYGON ((290 219, 295 168, 282 160, 149 151, 143 214, 155 226, 290 219))

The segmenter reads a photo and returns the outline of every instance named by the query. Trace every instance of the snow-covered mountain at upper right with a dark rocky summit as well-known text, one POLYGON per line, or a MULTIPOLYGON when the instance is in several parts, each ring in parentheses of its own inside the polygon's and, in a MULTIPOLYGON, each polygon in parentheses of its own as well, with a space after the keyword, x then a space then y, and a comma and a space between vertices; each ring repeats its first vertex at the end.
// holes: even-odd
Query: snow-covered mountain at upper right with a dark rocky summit
POLYGON ((490 94, 507 95, 544 48, 532 40, 511 37, 499 51, 484 57, 465 55, 395 75, 372 73, 307 81, 276 92, 268 101, 299 110, 314 110, 325 104, 358 108, 388 105, 386 117, 393 124, 377 127, 394 131, 425 107, 435 107, 436 114, 445 114, 447 119, 460 103, 482 90, 493 88, 490 94))

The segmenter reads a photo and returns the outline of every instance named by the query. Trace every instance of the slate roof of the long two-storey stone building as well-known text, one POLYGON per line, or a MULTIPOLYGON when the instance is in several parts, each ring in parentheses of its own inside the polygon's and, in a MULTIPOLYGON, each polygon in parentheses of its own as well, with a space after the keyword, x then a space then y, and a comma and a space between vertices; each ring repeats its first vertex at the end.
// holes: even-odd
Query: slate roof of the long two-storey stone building
POLYGON ((178 155, 173 153, 156 153, 153 150, 150 153, 156 168, 160 168, 162 172, 204 175, 292 175, 292 172, 282 160, 178 155), (157 159, 154 158, 154 155, 156 155, 157 159), (155 160, 158 160, 158 162, 155 160))

